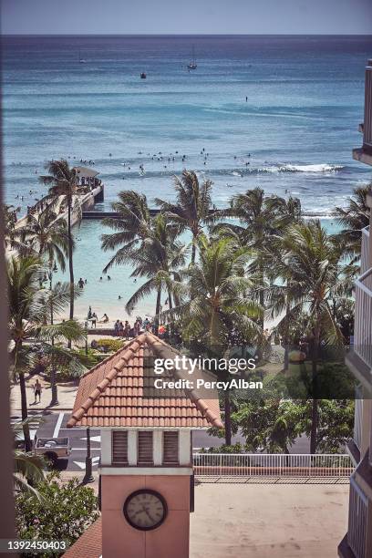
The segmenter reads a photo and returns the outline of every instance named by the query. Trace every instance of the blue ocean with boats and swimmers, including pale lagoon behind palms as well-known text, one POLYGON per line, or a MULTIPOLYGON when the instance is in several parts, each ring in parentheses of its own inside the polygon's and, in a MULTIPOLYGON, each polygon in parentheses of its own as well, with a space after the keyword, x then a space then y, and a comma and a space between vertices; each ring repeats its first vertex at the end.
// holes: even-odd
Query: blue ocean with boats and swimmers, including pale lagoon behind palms
MULTIPOLYGON (((325 216, 371 180, 351 157, 371 53, 371 36, 3 37, 5 202, 23 213, 45 191, 46 161, 65 157, 94 161, 101 210, 128 189, 150 206, 172 200, 173 175, 188 168, 212 180, 217 207, 259 185, 325 216)), ((99 282, 101 232, 77 231, 76 275, 88 279, 78 313, 125 317, 119 294, 136 285, 129 267, 99 282)))

